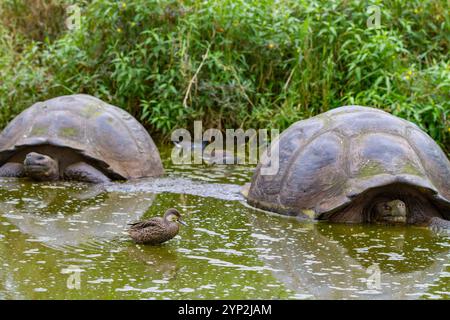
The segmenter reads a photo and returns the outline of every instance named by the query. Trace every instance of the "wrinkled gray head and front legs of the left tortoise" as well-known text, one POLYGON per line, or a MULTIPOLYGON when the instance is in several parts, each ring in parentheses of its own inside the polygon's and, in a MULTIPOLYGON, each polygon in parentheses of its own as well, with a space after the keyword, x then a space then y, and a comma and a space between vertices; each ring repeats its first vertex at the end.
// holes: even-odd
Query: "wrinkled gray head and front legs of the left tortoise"
POLYGON ((37 152, 29 152, 23 162, 13 159, 0 167, 0 177, 29 177, 35 181, 76 180, 88 183, 104 183, 111 181, 101 171, 83 162, 60 166, 58 154, 53 157, 37 152))

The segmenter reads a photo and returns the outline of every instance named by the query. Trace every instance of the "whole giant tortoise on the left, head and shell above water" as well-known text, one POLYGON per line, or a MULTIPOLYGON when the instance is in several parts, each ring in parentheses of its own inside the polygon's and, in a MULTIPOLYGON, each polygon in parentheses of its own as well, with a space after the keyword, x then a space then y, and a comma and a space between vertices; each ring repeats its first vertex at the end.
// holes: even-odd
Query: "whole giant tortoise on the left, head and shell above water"
POLYGON ((126 111, 76 94, 38 102, 0 134, 0 176, 100 183, 159 176, 152 138, 126 111))

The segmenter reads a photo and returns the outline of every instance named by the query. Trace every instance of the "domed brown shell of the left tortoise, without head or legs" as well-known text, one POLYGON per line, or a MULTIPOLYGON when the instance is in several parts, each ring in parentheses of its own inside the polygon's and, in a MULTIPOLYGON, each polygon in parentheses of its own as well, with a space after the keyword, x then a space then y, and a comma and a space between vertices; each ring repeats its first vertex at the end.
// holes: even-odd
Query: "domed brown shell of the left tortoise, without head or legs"
POLYGON ((85 94, 38 102, 0 135, 0 166, 25 147, 73 149, 115 179, 159 176, 163 166, 144 127, 125 110, 85 94))

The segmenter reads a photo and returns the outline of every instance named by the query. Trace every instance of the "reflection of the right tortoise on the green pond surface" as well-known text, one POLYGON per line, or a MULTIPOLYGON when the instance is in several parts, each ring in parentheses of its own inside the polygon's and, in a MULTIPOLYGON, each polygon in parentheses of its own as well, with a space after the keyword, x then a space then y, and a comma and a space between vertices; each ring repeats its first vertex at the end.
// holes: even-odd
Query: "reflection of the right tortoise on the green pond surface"
MULTIPOLYGON (((416 227, 301 223, 253 214, 259 255, 297 298, 414 299, 443 281, 448 297, 447 237, 416 227), (378 282, 379 280, 379 282, 378 282)), ((429 297, 436 297, 430 294, 429 297)))

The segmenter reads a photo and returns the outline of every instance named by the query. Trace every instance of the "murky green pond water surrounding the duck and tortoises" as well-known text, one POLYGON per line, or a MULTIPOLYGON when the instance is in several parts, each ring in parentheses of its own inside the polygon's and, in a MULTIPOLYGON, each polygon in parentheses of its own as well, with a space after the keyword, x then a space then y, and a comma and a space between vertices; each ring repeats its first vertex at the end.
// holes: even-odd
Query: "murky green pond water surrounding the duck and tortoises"
POLYGON ((84 184, 0 180, 0 299, 448 299, 450 238, 417 227, 307 223, 252 209, 245 166, 84 184), (161 246, 126 224, 178 208, 161 246))

